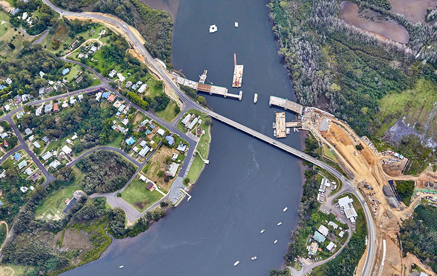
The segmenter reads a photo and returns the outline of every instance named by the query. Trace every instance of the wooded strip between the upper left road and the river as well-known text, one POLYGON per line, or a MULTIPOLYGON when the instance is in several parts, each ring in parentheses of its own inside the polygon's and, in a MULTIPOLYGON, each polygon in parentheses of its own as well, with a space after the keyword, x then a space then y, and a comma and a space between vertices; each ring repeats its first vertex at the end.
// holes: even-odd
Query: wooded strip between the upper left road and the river
POLYGON ((153 57, 171 67, 171 32, 173 22, 168 12, 151 9, 139 0, 54 0, 70 11, 93 11, 113 14, 134 26, 146 40, 145 47, 153 57))

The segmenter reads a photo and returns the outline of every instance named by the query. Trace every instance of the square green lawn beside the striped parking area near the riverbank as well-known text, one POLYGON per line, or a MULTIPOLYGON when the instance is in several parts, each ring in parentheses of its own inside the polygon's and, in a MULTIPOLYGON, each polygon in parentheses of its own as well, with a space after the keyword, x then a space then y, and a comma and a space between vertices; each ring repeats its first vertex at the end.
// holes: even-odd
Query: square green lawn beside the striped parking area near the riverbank
POLYGON ((147 190, 146 182, 135 177, 129 186, 121 192, 121 198, 126 200, 139 212, 145 211, 155 202, 160 200, 163 195, 157 190, 147 190))

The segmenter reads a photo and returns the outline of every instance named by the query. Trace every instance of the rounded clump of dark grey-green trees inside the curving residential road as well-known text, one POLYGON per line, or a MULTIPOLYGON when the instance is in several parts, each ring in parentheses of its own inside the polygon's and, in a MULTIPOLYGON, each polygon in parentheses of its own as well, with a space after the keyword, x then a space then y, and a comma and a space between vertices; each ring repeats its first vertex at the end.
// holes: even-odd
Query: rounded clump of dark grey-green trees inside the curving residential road
POLYGON ((134 165, 110 151, 93 152, 77 162, 77 167, 85 173, 81 185, 87 194, 119 190, 136 171, 134 165))

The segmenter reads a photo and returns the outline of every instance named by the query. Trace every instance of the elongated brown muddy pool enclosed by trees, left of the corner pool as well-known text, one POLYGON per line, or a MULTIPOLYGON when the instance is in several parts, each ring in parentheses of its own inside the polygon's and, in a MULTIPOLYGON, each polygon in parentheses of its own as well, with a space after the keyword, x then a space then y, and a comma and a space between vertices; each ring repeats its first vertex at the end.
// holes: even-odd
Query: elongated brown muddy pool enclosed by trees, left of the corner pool
POLYGON ((400 43, 408 43, 407 30, 397 22, 388 21, 380 14, 368 9, 359 12, 358 5, 351 1, 341 2, 340 7, 340 17, 347 23, 400 43))

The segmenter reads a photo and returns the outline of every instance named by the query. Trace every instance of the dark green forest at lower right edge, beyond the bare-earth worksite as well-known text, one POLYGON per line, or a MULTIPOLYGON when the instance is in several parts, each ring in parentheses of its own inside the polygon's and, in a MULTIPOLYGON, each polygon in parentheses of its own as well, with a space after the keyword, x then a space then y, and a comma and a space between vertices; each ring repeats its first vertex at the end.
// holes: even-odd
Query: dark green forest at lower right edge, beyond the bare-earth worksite
POLYGON ((403 221, 400 234, 404 255, 410 252, 437 271, 437 207, 416 207, 413 218, 403 221))

